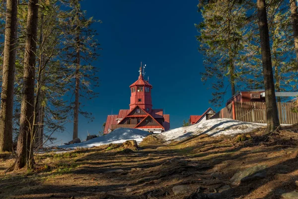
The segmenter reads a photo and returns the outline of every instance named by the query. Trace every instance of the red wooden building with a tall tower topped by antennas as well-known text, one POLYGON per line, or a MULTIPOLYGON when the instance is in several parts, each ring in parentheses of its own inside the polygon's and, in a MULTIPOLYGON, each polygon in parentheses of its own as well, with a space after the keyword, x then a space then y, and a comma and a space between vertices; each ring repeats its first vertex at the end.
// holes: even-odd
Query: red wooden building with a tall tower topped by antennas
POLYGON ((152 109, 149 81, 144 80, 142 67, 139 79, 130 86, 130 108, 121 109, 117 115, 108 115, 104 134, 116 128, 138 128, 160 133, 170 129, 170 115, 163 114, 162 109, 152 109))

